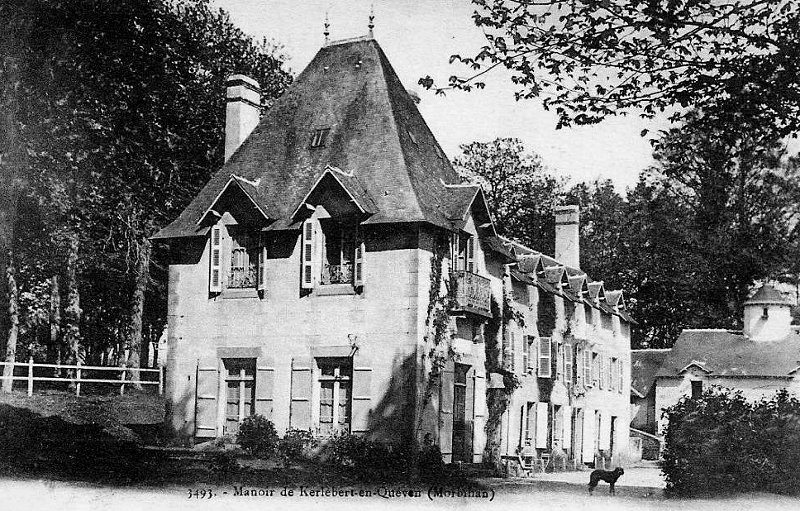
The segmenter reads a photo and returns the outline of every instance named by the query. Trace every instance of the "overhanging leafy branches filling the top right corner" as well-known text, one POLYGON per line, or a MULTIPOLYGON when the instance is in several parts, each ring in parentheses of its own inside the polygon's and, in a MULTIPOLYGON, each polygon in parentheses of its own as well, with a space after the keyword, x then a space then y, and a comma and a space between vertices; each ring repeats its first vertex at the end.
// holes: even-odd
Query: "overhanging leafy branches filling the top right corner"
POLYGON ((559 126, 639 110, 735 112, 777 136, 800 128, 800 4, 795 0, 472 0, 487 44, 453 55, 483 87, 496 67, 517 98, 545 96, 559 126))

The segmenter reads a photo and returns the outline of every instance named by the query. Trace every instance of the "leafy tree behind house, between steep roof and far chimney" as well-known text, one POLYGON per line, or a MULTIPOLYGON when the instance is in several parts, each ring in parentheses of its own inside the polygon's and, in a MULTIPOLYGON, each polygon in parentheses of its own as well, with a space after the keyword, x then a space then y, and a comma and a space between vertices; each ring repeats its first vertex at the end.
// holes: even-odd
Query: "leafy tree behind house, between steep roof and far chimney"
POLYGON ((526 154, 515 138, 461 146, 454 163, 462 177, 479 183, 501 234, 552 253, 553 206, 560 203, 565 181, 553 176, 536 154, 526 154))

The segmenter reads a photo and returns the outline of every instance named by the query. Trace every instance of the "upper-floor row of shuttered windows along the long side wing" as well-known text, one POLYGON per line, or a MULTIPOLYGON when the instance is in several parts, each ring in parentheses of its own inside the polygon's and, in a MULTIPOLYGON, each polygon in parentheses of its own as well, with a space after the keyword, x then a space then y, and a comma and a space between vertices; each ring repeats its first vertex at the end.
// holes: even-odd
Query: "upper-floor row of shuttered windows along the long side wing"
MULTIPOLYGON (((517 336, 510 334, 509 365, 516 372, 517 336)), ((539 378, 575 383, 584 387, 597 387, 621 393, 624 382, 624 364, 617 357, 597 351, 575 348, 570 343, 555 343, 550 337, 525 336, 522 345, 522 365, 526 373, 539 378), (555 349, 553 349, 555 347, 555 349), (555 375, 554 375, 555 372, 555 375)))

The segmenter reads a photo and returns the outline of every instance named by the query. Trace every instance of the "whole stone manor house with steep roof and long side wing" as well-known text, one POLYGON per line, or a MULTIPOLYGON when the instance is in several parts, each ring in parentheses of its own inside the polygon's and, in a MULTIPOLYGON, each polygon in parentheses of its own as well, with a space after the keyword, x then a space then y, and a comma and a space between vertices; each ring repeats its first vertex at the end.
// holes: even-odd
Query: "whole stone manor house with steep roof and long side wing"
POLYGON ((263 115, 230 78, 226 161, 155 236, 169 424, 624 460, 632 320, 579 269, 577 208, 555 258, 498 236, 416 101, 371 36, 326 43, 263 115))

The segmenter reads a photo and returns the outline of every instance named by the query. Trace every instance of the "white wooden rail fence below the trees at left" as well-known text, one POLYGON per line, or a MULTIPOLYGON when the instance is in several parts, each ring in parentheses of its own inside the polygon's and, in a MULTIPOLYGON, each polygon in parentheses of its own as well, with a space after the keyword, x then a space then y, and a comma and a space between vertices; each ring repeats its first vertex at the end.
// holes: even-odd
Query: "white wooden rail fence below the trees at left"
POLYGON ((125 385, 158 385, 158 393, 164 394, 164 368, 148 369, 137 367, 110 367, 110 366, 85 366, 80 362, 76 365, 63 365, 63 364, 34 364, 33 359, 29 359, 27 363, 24 362, 0 362, 0 381, 11 378, 16 381, 26 381, 28 383, 28 395, 33 395, 34 382, 70 382, 75 384, 75 395, 81 395, 81 384, 83 383, 104 383, 110 385, 119 385, 120 395, 125 394, 125 385), (27 368, 27 375, 25 376, 3 376, 3 369, 5 366, 11 366, 11 374, 14 374, 14 368, 24 367, 27 368), (54 369, 53 374, 58 376, 34 376, 34 369, 45 368, 54 369), (60 376, 61 372, 67 371, 67 376, 60 376), (71 371, 71 373, 70 373, 71 371), (102 379, 102 378, 84 378, 84 371, 107 371, 111 373, 119 373, 118 379, 102 379), (133 376, 139 372, 138 380, 127 380, 126 376, 133 376), (142 380, 143 373, 158 373, 158 379, 142 380))

